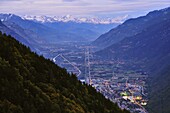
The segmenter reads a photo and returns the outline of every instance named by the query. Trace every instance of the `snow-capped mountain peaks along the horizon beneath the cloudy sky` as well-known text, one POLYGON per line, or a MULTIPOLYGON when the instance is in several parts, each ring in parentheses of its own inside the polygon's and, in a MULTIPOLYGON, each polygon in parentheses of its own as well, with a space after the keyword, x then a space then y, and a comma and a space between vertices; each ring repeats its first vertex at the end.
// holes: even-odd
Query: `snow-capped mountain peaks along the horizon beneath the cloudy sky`
POLYGON ((120 24, 124 22, 126 19, 128 19, 128 15, 116 17, 116 18, 106 18, 106 19, 90 18, 90 17, 89 18, 88 17, 73 17, 71 15, 54 16, 54 17, 25 15, 22 18, 26 20, 33 20, 36 22, 41 22, 41 23, 75 22, 75 23, 92 23, 92 24, 120 24))

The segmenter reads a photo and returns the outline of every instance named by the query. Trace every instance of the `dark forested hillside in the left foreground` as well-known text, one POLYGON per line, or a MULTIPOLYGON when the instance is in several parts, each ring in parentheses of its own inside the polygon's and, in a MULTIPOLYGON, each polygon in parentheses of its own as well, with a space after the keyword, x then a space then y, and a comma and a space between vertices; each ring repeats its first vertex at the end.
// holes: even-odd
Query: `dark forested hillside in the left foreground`
POLYGON ((128 113, 50 60, 0 33, 1 113, 128 113))

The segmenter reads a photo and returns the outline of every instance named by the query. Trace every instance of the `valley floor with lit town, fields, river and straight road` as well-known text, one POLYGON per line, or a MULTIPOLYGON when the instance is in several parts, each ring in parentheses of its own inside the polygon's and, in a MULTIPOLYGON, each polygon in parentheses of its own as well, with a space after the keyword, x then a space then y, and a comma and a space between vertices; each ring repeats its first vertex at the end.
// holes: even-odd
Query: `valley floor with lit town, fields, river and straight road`
POLYGON ((82 82, 92 85, 106 98, 132 113, 147 113, 147 72, 139 67, 127 68, 125 61, 106 60, 93 55, 86 44, 69 43, 47 46, 44 51, 57 65, 75 73, 82 82))

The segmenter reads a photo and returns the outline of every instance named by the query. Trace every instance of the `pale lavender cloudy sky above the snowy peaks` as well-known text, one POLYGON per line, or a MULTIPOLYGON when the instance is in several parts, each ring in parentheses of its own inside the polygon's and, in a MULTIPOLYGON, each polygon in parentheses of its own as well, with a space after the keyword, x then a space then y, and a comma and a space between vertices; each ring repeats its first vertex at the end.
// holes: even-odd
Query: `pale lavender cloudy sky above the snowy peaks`
POLYGON ((170 0, 0 0, 0 13, 136 17, 169 6, 170 0))

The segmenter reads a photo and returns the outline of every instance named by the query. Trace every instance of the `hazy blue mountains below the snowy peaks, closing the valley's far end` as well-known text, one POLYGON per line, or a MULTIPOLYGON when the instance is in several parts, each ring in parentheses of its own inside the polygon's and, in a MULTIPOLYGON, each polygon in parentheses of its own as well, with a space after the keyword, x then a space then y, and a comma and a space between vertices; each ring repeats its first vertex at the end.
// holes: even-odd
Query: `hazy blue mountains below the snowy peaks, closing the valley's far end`
MULTIPOLYGON (((0 20, 8 27, 8 30, 14 31, 29 43, 34 43, 36 45, 69 41, 93 41, 102 33, 119 25, 117 23, 97 24, 77 23, 74 21, 38 22, 14 14, 0 14, 0 20)), ((6 29, 4 32, 7 33, 8 30, 6 29)))

